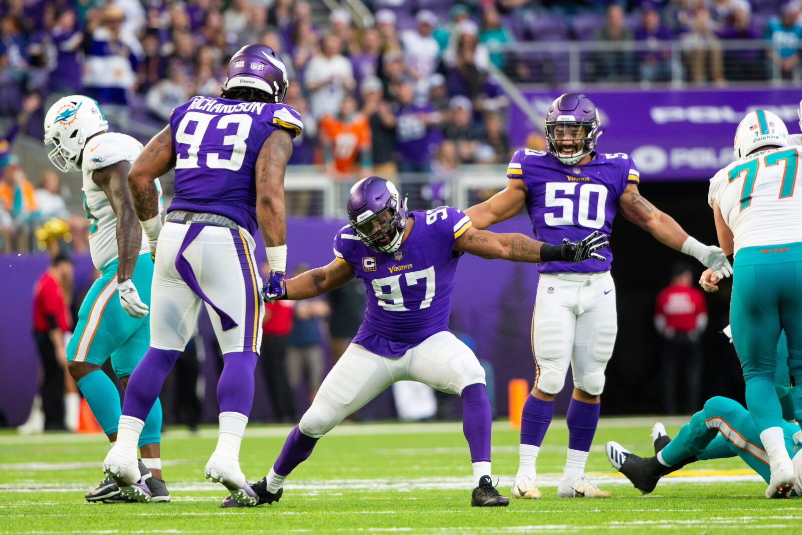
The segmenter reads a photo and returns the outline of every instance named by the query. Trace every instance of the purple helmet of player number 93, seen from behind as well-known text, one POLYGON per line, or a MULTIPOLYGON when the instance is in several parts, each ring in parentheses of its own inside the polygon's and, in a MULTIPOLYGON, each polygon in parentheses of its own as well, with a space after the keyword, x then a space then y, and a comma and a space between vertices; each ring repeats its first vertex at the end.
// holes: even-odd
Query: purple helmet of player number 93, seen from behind
POLYGON ((273 95, 275 102, 281 103, 288 85, 287 67, 272 48, 265 45, 246 45, 229 61, 223 89, 253 87, 273 95))

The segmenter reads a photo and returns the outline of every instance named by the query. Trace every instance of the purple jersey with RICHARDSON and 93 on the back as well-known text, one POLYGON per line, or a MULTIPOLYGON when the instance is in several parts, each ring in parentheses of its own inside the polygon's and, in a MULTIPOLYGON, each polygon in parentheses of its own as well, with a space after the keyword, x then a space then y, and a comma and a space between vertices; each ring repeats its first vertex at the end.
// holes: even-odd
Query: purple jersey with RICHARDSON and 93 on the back
POLYGON ((176 107, 170 116, 176 192, 168 213, 217 213, 255 234, 256 160, 276 128, 299 136, 298 111, 286 104, 205 96, 176 107))

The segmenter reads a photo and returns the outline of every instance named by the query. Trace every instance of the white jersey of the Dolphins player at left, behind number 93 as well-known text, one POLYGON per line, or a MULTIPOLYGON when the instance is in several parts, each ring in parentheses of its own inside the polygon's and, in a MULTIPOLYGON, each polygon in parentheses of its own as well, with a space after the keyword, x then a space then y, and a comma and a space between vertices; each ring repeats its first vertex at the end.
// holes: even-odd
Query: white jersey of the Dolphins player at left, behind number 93
MULTIPOLYGON (((89 253, 92 263, 98 270, 118 257, 117 215, 111 209, 106 193, 92 180, 92 174, 119 161, 133 164, 143 150, 142 144, 125 134, 107 132, 89 140, 83 149, 83 208, 89 218, 89 253)), ((162 209, 161 184, 156 179, 159 190, 159 213, 162 209)), ((148 253, 148 237, 142 234, 141 253, 148 253)))

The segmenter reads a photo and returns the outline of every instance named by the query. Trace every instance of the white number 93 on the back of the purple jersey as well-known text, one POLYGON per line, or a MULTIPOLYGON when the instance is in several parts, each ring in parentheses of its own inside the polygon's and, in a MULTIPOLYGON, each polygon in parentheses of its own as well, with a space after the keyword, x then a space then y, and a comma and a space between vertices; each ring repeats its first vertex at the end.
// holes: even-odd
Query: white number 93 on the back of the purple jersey
POLYGON ((231 145, 231 157, 224 160, 217 152, 206 152, 206 167, 213 169, 228 169, 238 171, 245 160, 245 151, 248 146, 245 140, 250 135, 253 119, 245 113, 233 113, 225 116, 215 116, 200 111, 188 111, 181 119, 176 130, 176 142, 189 145, 187 156, 181 157, 176 154, 176 169, 198 168, 198 151, 201 150, 206 131, 213 120, 217 120, 217 129, 225 131, 229 124, 237 125, 237 132, 230 136, 223 136, 223 145, 231 145), (187 127, 190 123, 195 123, 195 132, 189 134, 187 127))

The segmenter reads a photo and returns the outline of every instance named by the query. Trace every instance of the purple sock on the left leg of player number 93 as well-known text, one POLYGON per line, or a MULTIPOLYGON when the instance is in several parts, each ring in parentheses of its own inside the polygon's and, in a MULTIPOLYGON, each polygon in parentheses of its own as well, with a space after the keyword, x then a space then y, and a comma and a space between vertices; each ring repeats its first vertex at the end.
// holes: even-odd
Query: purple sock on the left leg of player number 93
POLYGON ((167 374, 176 363, 179 353, 180 351, 148 347, 145 356, 128 378, 123 400, 124 415, 143 421, 148 418, 148 413, 153 403, 156 403, 161 387, 164 386, 164 379, 167 379, 167 374))

